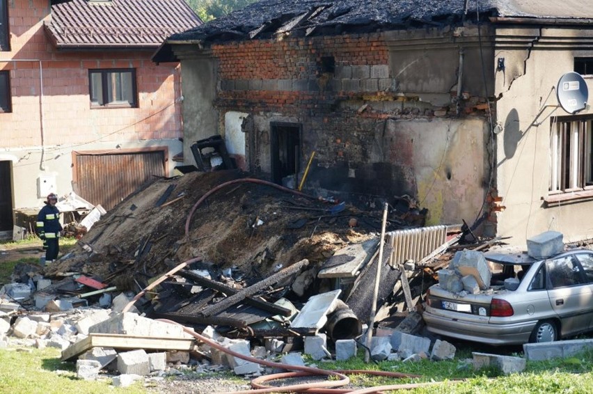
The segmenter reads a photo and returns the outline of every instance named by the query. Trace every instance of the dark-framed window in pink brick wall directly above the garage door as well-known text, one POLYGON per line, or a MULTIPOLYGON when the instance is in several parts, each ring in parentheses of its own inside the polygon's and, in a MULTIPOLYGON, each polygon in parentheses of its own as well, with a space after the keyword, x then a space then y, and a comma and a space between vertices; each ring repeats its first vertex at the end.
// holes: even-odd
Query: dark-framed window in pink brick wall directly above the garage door
POLYGON ((89 70, 90 107, 137 107, 136 70, 89 70))

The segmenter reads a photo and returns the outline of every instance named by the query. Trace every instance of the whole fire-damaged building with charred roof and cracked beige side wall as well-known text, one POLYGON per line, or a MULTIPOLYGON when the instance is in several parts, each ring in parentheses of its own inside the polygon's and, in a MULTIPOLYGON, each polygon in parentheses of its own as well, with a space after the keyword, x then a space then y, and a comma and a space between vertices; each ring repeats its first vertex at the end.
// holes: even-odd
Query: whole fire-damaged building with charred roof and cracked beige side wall
POLYGON ((303 184, 322 196, 409 195, 427 224, 512 244, 590 238, 590 111, 569 116, 555 86, 587 74, 593 15, 464 3, 260 1, 169 37, 153 60, 182 63, 186 164, 221 134, 278 183, 298 186, 313 156, 303 184))

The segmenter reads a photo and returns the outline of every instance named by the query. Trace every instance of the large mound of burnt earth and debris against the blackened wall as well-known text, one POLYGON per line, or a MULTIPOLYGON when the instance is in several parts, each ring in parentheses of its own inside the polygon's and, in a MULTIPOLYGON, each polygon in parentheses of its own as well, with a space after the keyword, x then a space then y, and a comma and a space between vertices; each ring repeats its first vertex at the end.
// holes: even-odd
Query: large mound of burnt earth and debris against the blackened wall
POLYGON ((68 255, 45 267, 45 275, 78 272, 120 290, 139 290, 149 278, 200 257, 209 269, 231 269, 251 284, 303 258, 318 267, 381 228, 379 210, 239 181, 246 177, 240 171, 193 172, 145 184, 102 216, 68 255), (195 208, 186 233, 196 202, 230 181, 235 183, 195 208))

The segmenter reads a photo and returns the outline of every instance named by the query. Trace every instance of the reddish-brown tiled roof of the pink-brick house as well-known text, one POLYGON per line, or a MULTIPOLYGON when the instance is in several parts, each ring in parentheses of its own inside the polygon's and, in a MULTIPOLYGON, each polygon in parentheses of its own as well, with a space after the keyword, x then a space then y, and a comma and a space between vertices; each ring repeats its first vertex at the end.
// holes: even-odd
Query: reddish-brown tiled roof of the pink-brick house
POLYGON ((72 0, 52 4, 45 29, 58 49, 154 49, 201 23, 184 0, 72 0))

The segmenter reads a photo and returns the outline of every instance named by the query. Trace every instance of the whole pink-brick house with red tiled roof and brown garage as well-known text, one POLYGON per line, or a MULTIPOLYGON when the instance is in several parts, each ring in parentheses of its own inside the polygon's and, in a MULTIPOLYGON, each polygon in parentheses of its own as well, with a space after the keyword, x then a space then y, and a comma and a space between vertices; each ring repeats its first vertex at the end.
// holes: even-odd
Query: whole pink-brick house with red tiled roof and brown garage
POLYGON ((183 0, 0 1, 2 235, 13 233, 13 210, 36 214, 49 192, 109 210, 173 173, 179 65, 150 55, 198 24, 183 0))

